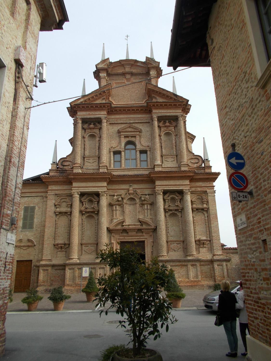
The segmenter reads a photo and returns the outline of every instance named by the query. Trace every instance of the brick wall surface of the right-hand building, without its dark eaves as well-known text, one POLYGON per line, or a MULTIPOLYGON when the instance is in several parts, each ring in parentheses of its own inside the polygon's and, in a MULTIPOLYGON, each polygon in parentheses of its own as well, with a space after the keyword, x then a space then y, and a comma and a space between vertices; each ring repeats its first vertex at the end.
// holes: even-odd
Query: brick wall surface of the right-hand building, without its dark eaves
MULTIPOLYGON (((208 46, 211 54, 223 152, 231 143, 246 161, 242 170, 253 190, 249 202, 231 201, 241 276, 246 293, 250 335, 271 344, 270 313, 270 93, 269 80, 258 88, 258 74, 243 4, 218 1, 210 17, 208 46), (268 125, 269 124, 269 125, 268 125), (245 214, 247 226, 238 230, 236 218, 245 214), (263 240, 267 241, 264 251, 263 240)), ((231 170, 226 164, 227 176, 231 170)), ((230 189, 232 191, 232 189, 230 189)))

